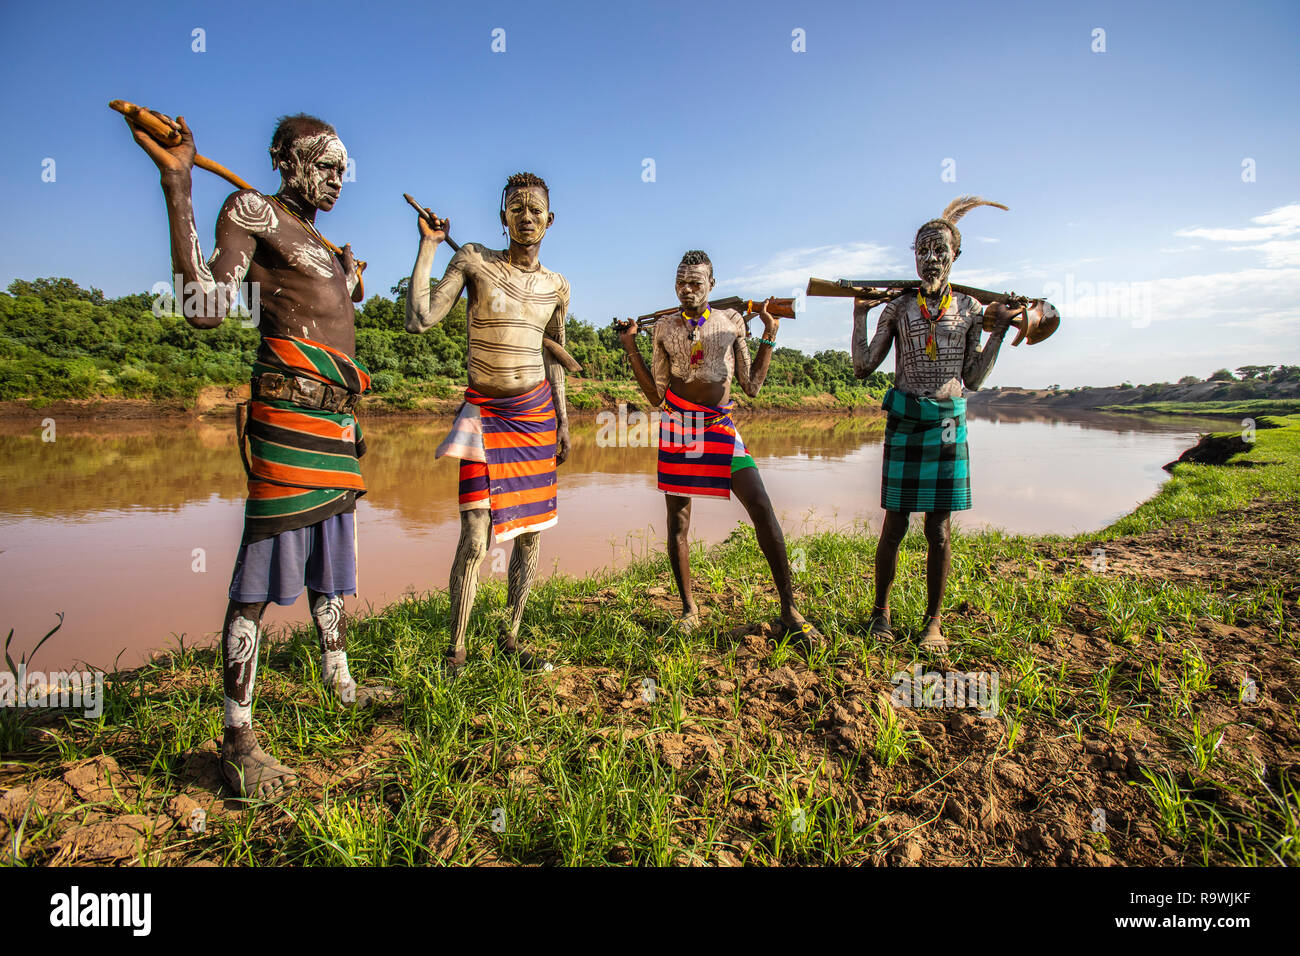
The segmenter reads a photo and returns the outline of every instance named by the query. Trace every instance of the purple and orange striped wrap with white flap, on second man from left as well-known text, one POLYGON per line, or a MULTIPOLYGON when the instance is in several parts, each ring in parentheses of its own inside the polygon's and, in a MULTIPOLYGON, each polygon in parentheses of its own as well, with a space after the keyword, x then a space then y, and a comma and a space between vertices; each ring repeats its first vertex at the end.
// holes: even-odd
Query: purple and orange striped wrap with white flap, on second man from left
POLYGON ((491 509, 497 541, 555 524, 555 405, 551 384, 512 398, 465 389, 437 457, 460 459, 460 510, 491 509))

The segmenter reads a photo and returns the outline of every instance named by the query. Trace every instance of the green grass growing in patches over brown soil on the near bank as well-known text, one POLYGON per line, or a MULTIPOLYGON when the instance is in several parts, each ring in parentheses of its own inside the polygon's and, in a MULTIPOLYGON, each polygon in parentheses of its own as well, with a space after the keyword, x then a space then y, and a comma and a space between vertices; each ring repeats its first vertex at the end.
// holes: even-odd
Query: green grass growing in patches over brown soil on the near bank
MULTIPOLYGON (((1178 519, 1205 519, 1264 496, 1300 496, 1300 416, 1261 429, 1256 468, 1179 466, 1150 501, 1100 537, 1132 535, 1178 519)), ((1052 568, 1044 548, 1080 538, 997 532, 954 538, 945 628, 954 665, 1001 674, 1004 731, 988 743, 1015 760, 1032 740, 1140 734, 1161 745, 1144 758, 1145 813, 1184 862, 1300 862, 1300 801, 1277 767, 1248 766, 1222 745, 1222 722, 1208 708, 1238 702, 1183 635, 1200 622, 1234 624, 1280 618, 1278 581, 1252 592, 1176 584, 1158 578, 1098 575, 1084 564, 1052 568), (1011 572, 1015 570, 1018 572, 1011 572), (1032 572, 1032 574, 1031 574, 1032 572), (1088 672, 1045 659, 1053 635, 1079 627, 1088 609, 1113 663, 1088 672), (1235 791, 1234 791, 1235 788, 1235 791), (1232 800, 1212 793, 1228 795, 1232 800)), ((794 548, 796 542, 790 542, 794 548)), ((322 791, 292 793, 277 806, 209 819, 204 834, 177 843, 187 860, 224 865, 407 865, 446 861, 590 864, 855 864, 879 860, 914 834, 931 832, 959 788, 957 767, 932 765, 911 721, 868 704, 861 752, 845 757, 798 745, 841 701, 853 680, 888 688, 914 659, 906 627, 883 643, 866 632, 872 605, 875 537, 857 531, 798 540, 801 606, 827 635, 805 654, 768 646, 763 665, 806 665, 829 693, 794 718, 774 721, 741 693, 742 645, 731 628, 775 618, 777 607, 753 531, 693 554, 698 581, 715 600, 705 627, 680 636, 671 611, 649 602, 664 587, 667 561, 654 554, 603 576, 554 576, 538 584, 523 639, 542 646, 558 675, 528 676, 488 657, 504 588, 485 581, 473 624, 473 663, 455 684, 438 667, 447 643, 445 592, 402 601, 351 626, 354 674, 402 688, 406 706, 385 715, 341 711, 315 689, 315 637, 300 627, 264 644, 256 715, 264 745, 294 766, 333 767, 322 791), (584 679, 608 682, 602 697, 556 693, 576 665, 584 679), (849 669, 849 670, 846 670, 849 669), (855 670, 854 670, 855 669, 855 670), (646 679, 655 693, 644 695, 646 679), (644 700, 645 696, 653 700, 644 700), (632 705, 623 708, 620 700, 632 705), (706 700, 720 701, 708 711, 706 700), (640 701, 640 702, 638 702, 640 701), (745 732, 734 736, 736 718, 745 732), (793 721, 793 722, 792 722, 793 721), (384 737, 377 737, 382 732, 384 737), (666 741, 682 735, 716 747, 716 760, 680 762, 666 741), (338 763, 346 765, 339 773, 338 763), (870 771, 870 773, 868 773, 870 771), (885 796, 854 812, 849 791, 863 775, 885 780, 885 796), (928 791, 928 793, 927 793, 928 791), (928 800, 893 829, 884 801, 928 800), (751 812, 738 825, 734 808, 751 812), (450 834, 450 836, 448 836, 450 834), (441 847, 441 849, 439 849, 441 847)), ((1294 542, 1291 542, 1294 548, 1294 542)), ((670 585, 671 587, 671 585, 670 585)), ((909 535, 900 558, 894 622, 919 622, 924 605, 924 541, 909 535)), ((1294 656, 1296 635, 1278 632, 1294 656)), ((221 732, 220 670, 211 650, 179 646, 117 675, 98 719, 60 718, 32 741, 16 711, 0 711, 0 745, 10 775, 57 775, 61 761, 112 754, 148 792, 182 787, 186 754, 221 732), (26 749, 20 749, 18 741, 26 749)), ((1294 718, 1294 710, 1292 710, 1294 718)), ((1032 788, 1034 784, 1031 784, 1032 788)), ((148 812, 144 796, 110 806, 148 812)), ((890 804, 893 806, 894 804, 890 804)), ((156 809, 153 810, 156 812, 156 809)), ((47 862, 43 849, 84 808, 34 810, 22 823, 18 861, 47 862)), ((14 827, 16 830, 16 827, 14 827)), ((10 832, 10 838, 14 834, 10 832)), ((6 840, 9 838, 5 838, 6 840)), ((1104 848, 1110 848, 1106 838, 1104 848)))

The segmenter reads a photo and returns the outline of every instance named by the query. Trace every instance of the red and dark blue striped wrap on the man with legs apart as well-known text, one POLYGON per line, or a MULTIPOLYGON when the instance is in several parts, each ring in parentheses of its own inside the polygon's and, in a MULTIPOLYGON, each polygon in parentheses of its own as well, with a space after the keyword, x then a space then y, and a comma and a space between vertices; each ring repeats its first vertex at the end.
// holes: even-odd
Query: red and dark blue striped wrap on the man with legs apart
POLYGON ((754 464, 732 423, 734 407, 696 405, 668 389, 659 412, 660 492, 731 498, 732 473, 754 464))

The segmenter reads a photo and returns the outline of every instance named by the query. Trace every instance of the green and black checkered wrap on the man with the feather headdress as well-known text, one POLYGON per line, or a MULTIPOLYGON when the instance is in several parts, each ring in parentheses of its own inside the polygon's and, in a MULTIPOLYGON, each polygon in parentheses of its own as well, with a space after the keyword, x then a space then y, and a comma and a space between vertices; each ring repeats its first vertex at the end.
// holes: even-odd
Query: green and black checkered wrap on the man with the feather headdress
POLYGON ((880 507, 887 511, 970 509, 966 399, 916 398, 889 389, 880 407, 889 415, 880 507))

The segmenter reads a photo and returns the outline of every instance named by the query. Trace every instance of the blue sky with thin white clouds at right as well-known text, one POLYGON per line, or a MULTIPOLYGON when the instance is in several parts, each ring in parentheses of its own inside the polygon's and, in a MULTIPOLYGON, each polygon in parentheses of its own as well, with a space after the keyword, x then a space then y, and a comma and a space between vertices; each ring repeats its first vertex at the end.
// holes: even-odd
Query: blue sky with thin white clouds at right
MULTIPOLYGON (((592 323, 673 304, 693 247, 720 294, 911 277, 915 228, 975 193, 1010 212, 962 221, 954 281, 1049 291, 1063 316, 1046 343, 1005 350, 989 384, 1300 363, 1294 0, 412 7, 6 3, 0 284, 69 276, 118 295, 168 278, 156 173, 107 108, 121 98, 183 113, 200 152, 268 191, 276 117, 333 122, 356 182, 320 226, 369 261, 368 291, 410 274, 403 191, 494 245, 520 169, 550 183, 542 261, 592 323)), ((229 187, 194 183, 211 252, 229 187)), ((848 347, 849 312, 810 300, 780 339, 848 347)))

